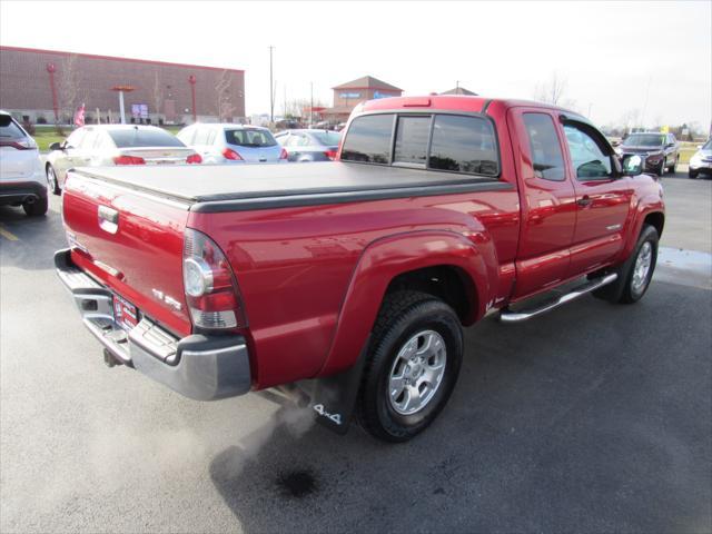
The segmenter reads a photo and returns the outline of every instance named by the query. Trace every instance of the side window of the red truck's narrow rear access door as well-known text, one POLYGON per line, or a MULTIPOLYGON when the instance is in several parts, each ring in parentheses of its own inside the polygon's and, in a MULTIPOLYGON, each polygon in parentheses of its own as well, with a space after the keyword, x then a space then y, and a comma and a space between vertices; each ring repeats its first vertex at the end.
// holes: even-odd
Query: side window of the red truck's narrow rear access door
POLYGON ((552 117, 545 113, 524 113, 523 117, 530 139, 534 176, 544 180, 563 181, 566 178, 564 157, 552 117))

